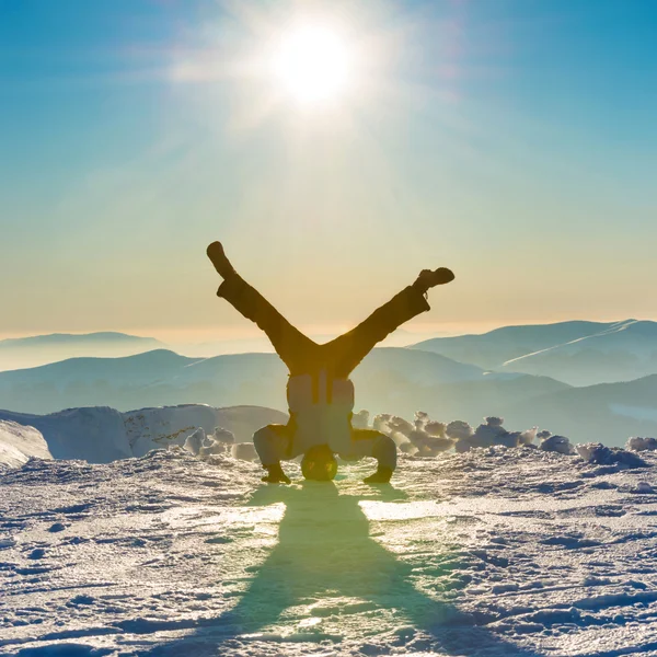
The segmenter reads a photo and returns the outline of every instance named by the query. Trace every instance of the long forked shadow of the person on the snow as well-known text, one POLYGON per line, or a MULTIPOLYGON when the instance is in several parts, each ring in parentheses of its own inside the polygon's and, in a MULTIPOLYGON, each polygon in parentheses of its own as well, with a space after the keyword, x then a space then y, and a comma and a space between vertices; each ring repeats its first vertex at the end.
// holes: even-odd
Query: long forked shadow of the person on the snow
MULTIPOLYGON (((366 499, 404 498, 402 492, 384 486, 378 495, 368 495, 366 499)), ((187 635, 180 643, 148 654, 234 654, 238 637, 253 635, 281 616, 283 621, 301 620, 296 618, 295 608, 302 606, 300 615, 306 620, 309 620, 309 607, 315 619, 366 611, 364 623, 370 622, 372 611, 393 613, 395 625, 403 625, 405 621, 427 635, 424 645, 415 649, 464 656, 487 650, 486 655, 535 657, 537 653, 476 626, 471 615, 453 604, 436 601, 418 591, 410 580, 412 566, 395 558, 370 537, 369 521, 359 505, 362 499, 339 494, 333 483, 308 482, 301 488, 264 486, 256 489, 250 505, 280 502, 286 505, 278 544, 234 608, 211 623, 203 623, 196 634, 187 635)), ((339 638, 330 633, 310 632, 306 639, 339 638)), ((252 636, 253 639, 256 637, 252 636)), ((301 639, 301 636, 290 638, 301 639)), ((268 638, 264 635, 261 641, 268 638)), ((403 637, 400 641, 403 642, 403 637)), ((318 649, 320 647, 318 645, 318 649)), ((284 653, 281 649, 280 654, 284 653)))

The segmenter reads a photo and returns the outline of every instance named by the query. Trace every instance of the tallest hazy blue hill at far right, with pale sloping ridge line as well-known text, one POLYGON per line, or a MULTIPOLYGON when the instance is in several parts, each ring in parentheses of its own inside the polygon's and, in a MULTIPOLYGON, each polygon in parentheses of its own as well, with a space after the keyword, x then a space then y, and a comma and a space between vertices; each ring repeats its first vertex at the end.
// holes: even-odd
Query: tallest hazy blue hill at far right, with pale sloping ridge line
POLYGON ((572 385, 657 373, 657 323, 636 320, 506 326, 483 335, 434 338, 413 348, 572 385))

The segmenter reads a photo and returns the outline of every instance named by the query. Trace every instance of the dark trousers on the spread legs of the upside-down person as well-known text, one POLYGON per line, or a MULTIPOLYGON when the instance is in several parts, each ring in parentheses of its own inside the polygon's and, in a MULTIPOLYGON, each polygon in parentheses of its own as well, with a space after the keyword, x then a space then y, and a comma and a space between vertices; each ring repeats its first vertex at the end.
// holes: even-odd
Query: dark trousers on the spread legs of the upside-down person
POLYGON ((367 320, 330 343, 318 345, 292 326, 255 288, 239 275, 226 279, 219 290, 246 319, 266 334, 290 376, 316 374, 325 369, 336 379, 346 379, 358 364, 404 322, 426 310, 424 295, 408 286, 376 310, 367 320))

